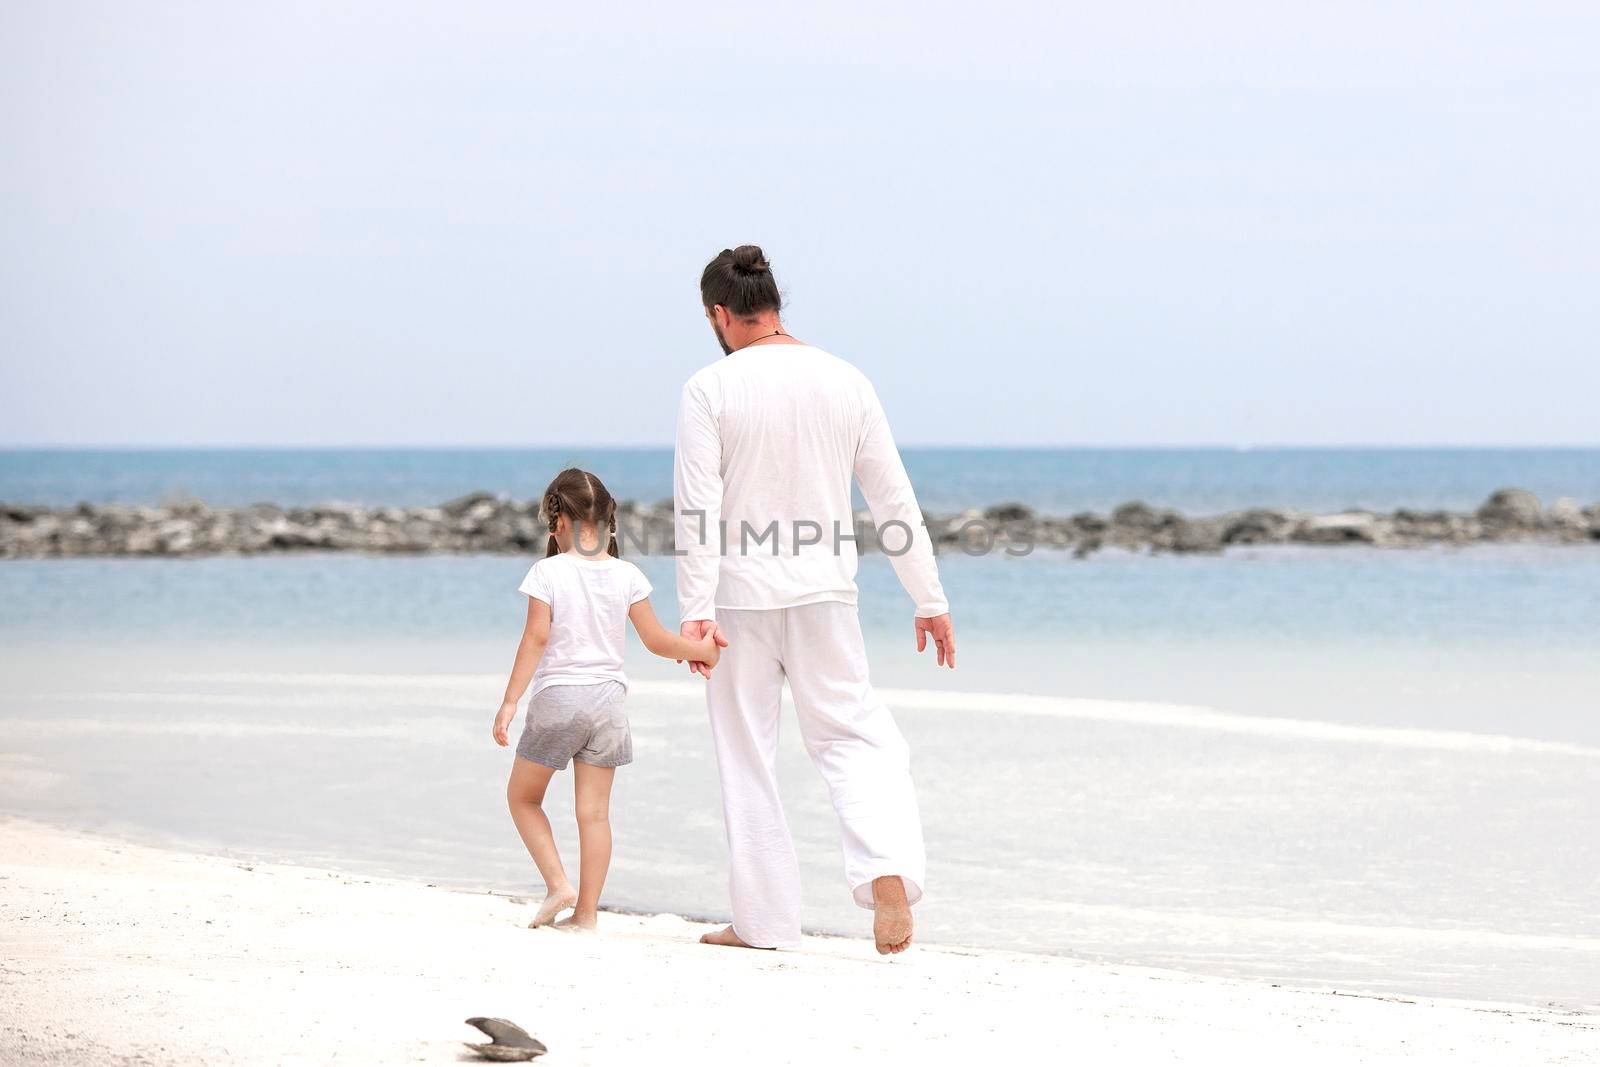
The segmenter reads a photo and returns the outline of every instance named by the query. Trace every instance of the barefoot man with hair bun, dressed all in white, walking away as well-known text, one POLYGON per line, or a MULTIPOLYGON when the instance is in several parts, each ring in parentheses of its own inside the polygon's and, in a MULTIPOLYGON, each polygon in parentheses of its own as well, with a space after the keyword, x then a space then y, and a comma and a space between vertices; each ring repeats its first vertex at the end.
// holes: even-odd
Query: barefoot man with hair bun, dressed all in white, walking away
POLYGON ((850 480, 915 601, 917 651, 931 637, 955 667, 950 608, 933 544, 872 384, 784 331, 762 250, 723 250, 701 299, 726 358, 694 374, 678 411, 678 611, 683 635, 728 651, 707 675, 733 925, 707 944, 800 941, 800 865, 778 798, 784 678, 845 841, 845 877, 874 909, 882 953, 904 952, 926 864, 910 757, 867 681, 856 617, 850 480))

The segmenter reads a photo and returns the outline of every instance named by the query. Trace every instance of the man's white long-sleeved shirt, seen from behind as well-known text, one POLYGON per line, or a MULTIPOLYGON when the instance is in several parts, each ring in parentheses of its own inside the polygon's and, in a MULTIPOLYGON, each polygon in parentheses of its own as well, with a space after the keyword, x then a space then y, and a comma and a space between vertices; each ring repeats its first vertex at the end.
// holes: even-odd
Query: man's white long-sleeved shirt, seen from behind
POLYGON ((694 374, 672 478, 680 619, 854 603, 851 475, 917 614, 949 611, 917 494, 861 371, 806 344, 762 344, 694 374))

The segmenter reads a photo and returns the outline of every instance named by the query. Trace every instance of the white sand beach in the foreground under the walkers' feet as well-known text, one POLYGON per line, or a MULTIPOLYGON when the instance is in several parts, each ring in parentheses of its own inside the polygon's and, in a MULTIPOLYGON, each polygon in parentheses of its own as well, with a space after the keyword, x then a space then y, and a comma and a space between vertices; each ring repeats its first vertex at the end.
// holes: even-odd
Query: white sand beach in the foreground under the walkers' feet
POLYGON ((502 896, 0 819, 0 1062, 448 1064, 467 1016, 546 1064, 1589 1064, 1600 1019, 810 937, 707 949, 670 915, 525 928, 502 896))

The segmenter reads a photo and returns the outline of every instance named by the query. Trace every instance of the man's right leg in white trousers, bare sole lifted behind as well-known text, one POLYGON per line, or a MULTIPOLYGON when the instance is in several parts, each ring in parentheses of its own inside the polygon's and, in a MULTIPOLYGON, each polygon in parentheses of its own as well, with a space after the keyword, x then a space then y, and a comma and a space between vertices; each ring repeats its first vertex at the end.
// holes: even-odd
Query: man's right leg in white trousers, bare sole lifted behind
POLYGON ((899 952, 910 944, 910 905, 922 899, 928 864, 910 750, 867 680, 856 606, 827 601, 784 614, 784 673, 838 813, 845 878, 856 904, 877 910, 878 952, 899 952))

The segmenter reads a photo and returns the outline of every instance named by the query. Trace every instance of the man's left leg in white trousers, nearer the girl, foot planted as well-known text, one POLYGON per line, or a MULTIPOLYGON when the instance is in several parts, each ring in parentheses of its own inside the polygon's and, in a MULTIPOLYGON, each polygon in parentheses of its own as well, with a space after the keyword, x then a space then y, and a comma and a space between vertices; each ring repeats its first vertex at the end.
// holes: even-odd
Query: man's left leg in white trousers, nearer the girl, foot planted
POLYGON ((728 638, 706 683, 728 824, 728 894, 738 941, 776 949, 800 941, 800 864, 778 798, 778 713, 784 672, 781 611, 718 611, 728 638))

